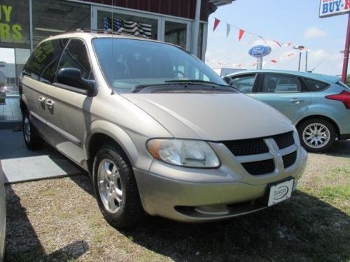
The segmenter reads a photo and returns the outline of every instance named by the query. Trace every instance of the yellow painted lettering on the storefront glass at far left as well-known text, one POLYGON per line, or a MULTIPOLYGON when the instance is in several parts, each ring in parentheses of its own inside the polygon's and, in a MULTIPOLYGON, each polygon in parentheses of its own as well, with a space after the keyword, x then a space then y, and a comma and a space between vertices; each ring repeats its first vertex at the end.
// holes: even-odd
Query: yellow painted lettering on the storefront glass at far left
POLYGON ((0 5, 0 41, 13 42, 22 40, 22 26, 11 23, 13 6, 0 5))

